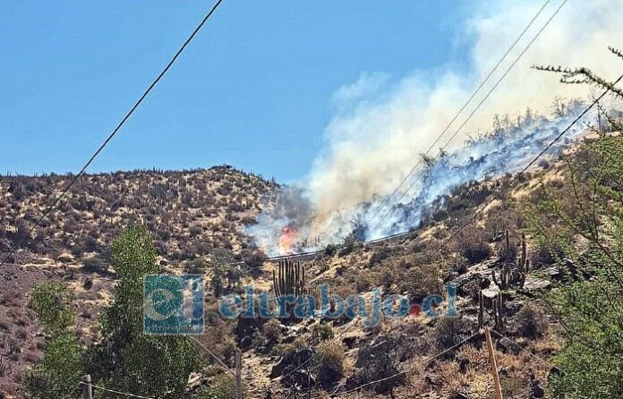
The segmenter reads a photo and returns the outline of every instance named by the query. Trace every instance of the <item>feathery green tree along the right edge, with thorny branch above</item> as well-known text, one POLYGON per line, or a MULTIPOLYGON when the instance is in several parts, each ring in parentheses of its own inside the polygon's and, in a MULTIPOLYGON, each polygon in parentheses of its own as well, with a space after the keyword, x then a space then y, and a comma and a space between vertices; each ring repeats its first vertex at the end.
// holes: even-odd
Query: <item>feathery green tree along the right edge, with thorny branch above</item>
MULTIPOLYGON (((613 83, 585 68, 540 69, 623 98, 613 83)), ((622 123, 605 117, 610 130, 623 131, 622 123)), ((623 137, 602 126, 595 132, 598 139, 566 157, 564 182, 543 184, 533 208, 534 236, 565 276, 545 298, 568 338, 554 358, 562 370, 550 378, 556 398, 623 397, 623 137)))

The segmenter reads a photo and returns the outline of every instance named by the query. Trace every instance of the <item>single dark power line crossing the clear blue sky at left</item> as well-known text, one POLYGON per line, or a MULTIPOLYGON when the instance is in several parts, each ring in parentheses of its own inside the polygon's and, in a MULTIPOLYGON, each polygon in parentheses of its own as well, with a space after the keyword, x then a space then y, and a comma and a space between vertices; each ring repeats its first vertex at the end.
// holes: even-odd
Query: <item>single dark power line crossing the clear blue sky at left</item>
POLYGON ((199 23, 199 25, 197 25, 197 27, 192 30, 191 35, 186 38, 186 41, 183 42, 182 47, 179 47, 179 49, 177 50, 177 52, 175 52, 175 55, 173 56, 173 58, 171 58, 171 60, 168 62, 168 64, 166 64, 165 69, 162 70, 162 72, 160 72, 158 74, 158 76, 156 77, 156 79, 154 79, 154 81, 151 82, 151 84, 149 85, 149 87, 145 90, 145 92, 143 92, 143 94, 141 95, 141 97, 136 101, 136 103, 134 103, 134 105, 132 106, 132 108, 130 108, 130 111, 128 111, 128 113, 124 116, 124 118, 121 120, 121 122, 119 122, 116 126, 115 129, 113 129, 112 132, 110 132, 110 134, 108 135, 107 139, 104 140, 104 142, 99 146, 99 148, 93 153, 93 155, 91 155, 91 157, 89 158, 89 160, 87 161, 86 164, 84 164, 84 166, 82 166, 80 173, 76 174, 72 181, 67 184, 67 186, 64 188, 64 190, 61 192, 60 195, 58 195, 54 201, 52 201, 52 204, 46 208, 46 210, 44 211, 43 215, 41 215, 37 222, 35 222, 34 225, 32 225, 32 227, 30 227, 29 232, 26 235, 22 235, 20 240, 18 240, 18 242, 16 243, 15 247, 13 248, 13 250, 11 250, 9 252, 9 254, 2 260, 2 262, 0 262, 0 267, 2 267, 9 259, 11 259, 11 257, 13 256, 13 254, 15 253, 15 251, 20 248, 21 243, 28 237, 30 238, 30 234, 32 232, 35 231, 35 229, 38 227, 38 225, 43 221, 43 219, 45 219, 47 217, 47 215, 56 207, 56 205, 58 204, 58 202, 60 200, 63 199, 64 195, 72 188, 73 184, 76 183, 78 181, 78 179, 81 177, 82 174, 85 173, 85 171, 87 170, 87 168, 90 166, 90 164, 95 160, 96 157, 98 157, 99 153, 108 145, 108 143, 110 142, 110 140, 113 140, 113 138, 115 137, 116 133, 119 132, 119 130, 124 126, 125 122, 130 118, 130 116, 132 116, 132 114, 134 113, 134 111, 136 111, 136 109, 141 105, 141 103, 143 102, 143 100, 145 98, 147 98, 147 96, 149 95, 149 92, 151 92, 151 90, 158 84, 158 81, 160 81, 166 74, 166 72, 168 72, 168 70, 171 68, 171 66, 175 63, 175 61, 177 60, 177 58, 182 55, 183 50, 191 43, 192 39, 197 35, 197 33, 199 33, 199 31, 201 30, 201 28, 203 28, 203 25, 205 25, 205 23, 209 20, 209 18, 212 16, 213 13, 215 13, 217 11, 218 6, 223 3, 223 0, 218 0, 216 4, 214 4, 212 6, 212 8, 209 10, 209 12, 203 17, 203 19, 201 20, 201 22, 199 23))

